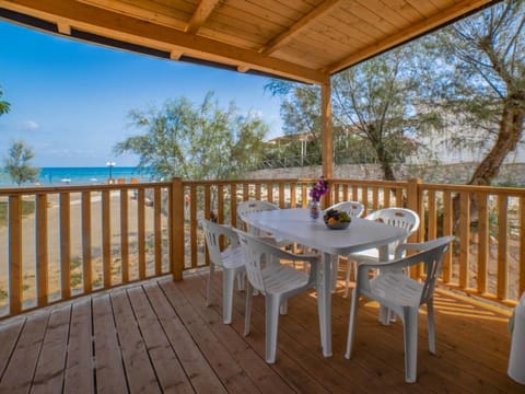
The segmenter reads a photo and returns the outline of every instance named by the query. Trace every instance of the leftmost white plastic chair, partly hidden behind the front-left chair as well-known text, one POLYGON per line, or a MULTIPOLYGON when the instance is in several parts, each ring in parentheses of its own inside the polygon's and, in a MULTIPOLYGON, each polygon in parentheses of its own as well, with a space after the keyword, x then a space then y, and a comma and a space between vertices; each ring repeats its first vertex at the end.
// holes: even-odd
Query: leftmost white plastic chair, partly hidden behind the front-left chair
POLYGON ((232 323, 233 287, 235 278, 238 288, 244 287, 244 266, 243 252, 238 244, 238 236, 231 227, 214 223, 210 220, 201 220, 205 230, 206 245, 208 256, 210 257, 210 275, 208 277, 208 289, 206 305, 212 302, 212 282, 215 266, 222 268, 222 321, 224 324, 232 323), (229 243, 228 247, 221 251, 221 239, 229 243))

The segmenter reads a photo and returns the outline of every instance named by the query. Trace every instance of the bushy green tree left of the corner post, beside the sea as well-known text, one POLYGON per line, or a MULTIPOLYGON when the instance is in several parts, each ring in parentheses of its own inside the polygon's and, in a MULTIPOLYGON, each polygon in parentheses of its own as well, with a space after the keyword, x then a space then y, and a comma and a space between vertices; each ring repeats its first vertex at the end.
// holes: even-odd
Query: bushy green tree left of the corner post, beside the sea
POLYGON ((182 96, 129 116, 145 132, 117 143, 114 151, 139 155, 139 167, 158 177, 234 178, 264 157, 268 126, 253 114, 238 115, 233 103, 222 109, 213 93, 200 105, 182 96))

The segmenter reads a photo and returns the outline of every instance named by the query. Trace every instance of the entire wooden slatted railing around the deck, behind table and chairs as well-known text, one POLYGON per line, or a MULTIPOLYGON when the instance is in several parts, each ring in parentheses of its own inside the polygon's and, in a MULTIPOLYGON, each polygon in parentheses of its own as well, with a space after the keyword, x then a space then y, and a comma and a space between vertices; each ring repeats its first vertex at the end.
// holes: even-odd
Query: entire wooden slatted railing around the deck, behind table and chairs
MULTIPOLYGON (((185 271, 208 265, 199 219, 214 216, 237 227, 237 205, 246 199, 306 207, 315 182, 175 179, 0 189, 0 317, 161 275, 183 279, 185 271)), ((457 235, 442 283, 508 305, 525 291, 525 189, 418 179, 329 185, 325 207, 342 200, 359 200, 368 212, 405 206, 421 217, 411 241, 457 235)))

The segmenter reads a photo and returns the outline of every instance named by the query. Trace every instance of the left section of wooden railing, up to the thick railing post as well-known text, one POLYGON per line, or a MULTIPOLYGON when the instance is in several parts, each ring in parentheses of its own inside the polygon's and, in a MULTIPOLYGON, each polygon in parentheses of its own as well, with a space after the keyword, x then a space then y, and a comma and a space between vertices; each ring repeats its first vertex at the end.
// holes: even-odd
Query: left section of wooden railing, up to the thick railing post
POLYGON ((1 189, 0 315, 172 273, 172 183, 1 189))

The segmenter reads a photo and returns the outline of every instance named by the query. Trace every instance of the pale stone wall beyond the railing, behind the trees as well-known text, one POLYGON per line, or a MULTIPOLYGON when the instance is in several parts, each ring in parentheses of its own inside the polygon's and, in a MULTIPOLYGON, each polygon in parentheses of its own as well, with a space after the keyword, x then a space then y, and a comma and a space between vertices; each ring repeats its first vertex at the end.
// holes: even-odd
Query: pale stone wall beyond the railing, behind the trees
MULTIPOLYGON (((399 181, 419 177, 424 183, 466 184, 477 163, 456 163, 444 165, 396 164, 394 173, 399 181)), ((259 170, 246 173, 246 178, 315 178, 322 174, 320 165, 259 170)), ((350 179, 382 179, 383 173, 377 164, 345 164, 334 166, 334 177, 350 179)), ((525 186, 525 163, 504 164, 494 186, 525 186)))

